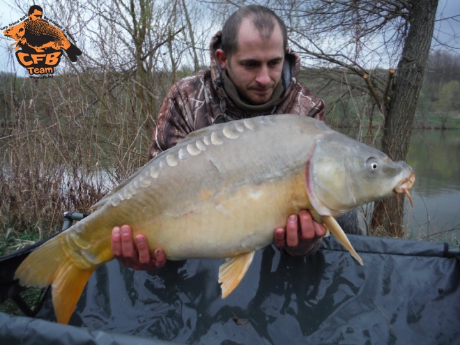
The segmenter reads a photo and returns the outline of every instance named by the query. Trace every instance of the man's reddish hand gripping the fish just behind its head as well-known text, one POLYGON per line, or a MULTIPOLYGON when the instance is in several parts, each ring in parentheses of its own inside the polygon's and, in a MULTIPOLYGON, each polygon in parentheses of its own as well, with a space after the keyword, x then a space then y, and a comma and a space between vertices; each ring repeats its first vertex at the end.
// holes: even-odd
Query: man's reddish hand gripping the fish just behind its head
POLYGON ((305 255, 312 251, 316 241, 325 236, 326 228, 315 222, 308 210, 300 210, 298 215, 290 215, 286 229, 275 229, 275 245, 293 256, 305 255))

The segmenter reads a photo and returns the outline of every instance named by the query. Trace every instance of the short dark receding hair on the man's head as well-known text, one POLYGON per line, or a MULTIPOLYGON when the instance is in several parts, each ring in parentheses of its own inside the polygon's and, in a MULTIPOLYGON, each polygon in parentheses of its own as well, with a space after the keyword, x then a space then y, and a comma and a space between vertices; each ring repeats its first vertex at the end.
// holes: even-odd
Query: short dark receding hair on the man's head
POLYGON ((282 19, 269 8, 259 5, 250 5, 242 7, 233 13, 222 28, 222 50, 227 55, 227 59, 238 51, 238 31, 241 22, 248 17, 264 38, 270 38, 272 36, 273 29, 275 29, 275 22, 277 22, 283 36, 283 48, 286 49, 287 30, 286 24, 284 24, 282 19))

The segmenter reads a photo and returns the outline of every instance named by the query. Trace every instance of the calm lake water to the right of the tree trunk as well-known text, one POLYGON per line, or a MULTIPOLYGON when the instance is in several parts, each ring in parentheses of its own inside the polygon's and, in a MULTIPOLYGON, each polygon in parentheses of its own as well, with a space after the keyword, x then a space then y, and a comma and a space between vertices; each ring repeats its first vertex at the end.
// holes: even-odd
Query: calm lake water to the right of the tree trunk
POLYGON ((413 131, 408 164, 416 176, 406 202, 409 238, 460 240, 460 130, 413 131))

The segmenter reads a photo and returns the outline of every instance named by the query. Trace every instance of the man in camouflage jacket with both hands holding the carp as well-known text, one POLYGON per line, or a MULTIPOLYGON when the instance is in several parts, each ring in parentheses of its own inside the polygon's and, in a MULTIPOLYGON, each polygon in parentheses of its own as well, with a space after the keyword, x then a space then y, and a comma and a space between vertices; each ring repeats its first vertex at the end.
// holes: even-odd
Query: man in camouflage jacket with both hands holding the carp
MULTIPOLYGON (((174 84, 164 100, 153 132, 149 158, 199 128, 213 123, 267 114, 299 114, 325 121, 324 103, 298 82, 300 57, 287 47, 284 22, 262 6, 233 13, 210 43, 210 70, 174 84)), ((315 252, 325 236, 307 210, 290 215, 274 229, 274 242, 291 255, 315 252)), ((128 225, 112 232, 112 252, 135 269, 164 266, 164 252, 148 252, 145 236, 132 240, 128 225)))

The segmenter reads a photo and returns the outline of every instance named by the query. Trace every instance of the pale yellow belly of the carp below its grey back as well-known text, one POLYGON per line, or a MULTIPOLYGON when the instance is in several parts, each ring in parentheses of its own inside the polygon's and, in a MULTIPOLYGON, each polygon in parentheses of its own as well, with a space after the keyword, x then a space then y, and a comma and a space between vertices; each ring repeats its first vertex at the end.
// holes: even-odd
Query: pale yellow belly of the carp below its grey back
POLYGON ((165 211, 132 229, 146 235, 151 250, 162 247, 167 259, 231 257, 269 245, 289 215, 311 208, 302 172, 209 194, 203 190, 204 200, 182 213, 165 211))

